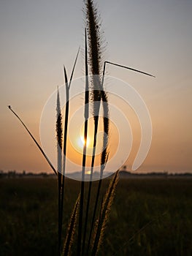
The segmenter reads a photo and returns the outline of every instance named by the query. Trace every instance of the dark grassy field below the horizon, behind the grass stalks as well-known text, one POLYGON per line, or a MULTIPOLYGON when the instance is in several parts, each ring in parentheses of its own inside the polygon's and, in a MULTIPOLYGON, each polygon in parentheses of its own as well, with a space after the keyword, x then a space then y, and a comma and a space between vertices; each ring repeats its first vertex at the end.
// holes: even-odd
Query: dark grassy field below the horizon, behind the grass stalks
MULTIPOLYGON (((64 230, 79 191, 66 181, 64 230)), ((99 255, 191 256, 191 197, 191 178, 120 179, 99 255)), ((1 179, 0 255, 57 255, 57 210, 56 179, 1 179)))

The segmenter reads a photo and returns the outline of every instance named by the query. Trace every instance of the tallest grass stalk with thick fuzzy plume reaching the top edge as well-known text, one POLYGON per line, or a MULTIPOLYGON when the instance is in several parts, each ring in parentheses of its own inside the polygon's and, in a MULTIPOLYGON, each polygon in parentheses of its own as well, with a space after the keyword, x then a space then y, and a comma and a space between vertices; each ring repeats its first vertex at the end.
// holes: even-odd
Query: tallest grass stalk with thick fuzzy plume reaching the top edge
MULTIPOLYGON (((85 240, 87 234, 87 225, 88 225, 88 212, 91 199, 91 187, 92 187, 92 178, 93 178, 93 167, 96 154, 96 136, 98 131, 99 124, 99 110, 101 106, 101 97, 105 95, 101 92, 103 88, 101 86, 101 35, 100 35, 100 23, 99 15, 97 13, 96 7, 93 4, 92 0, 85 1, 85 16, 88 26, 88 53, 89 53, 89 64, 92 77, 93 91, 91 94, 91 100, 93 101, 93 118, 94 118, 94 135, 93 135, 93 152, 91 159, 91 176, 88 189, 88 201, 86 206, 85 213, 85 229, 84 236, 82 241, 82 253, 85 250, 85 240)), ((105 98, 106 99, 106 98, 105 98)), ((107 102, 107 100, 106 100, 107 102)), ((106 128, 106 126, 104 126, 106 128)), ((106 129, 109 130, 109 127, 106 129)))

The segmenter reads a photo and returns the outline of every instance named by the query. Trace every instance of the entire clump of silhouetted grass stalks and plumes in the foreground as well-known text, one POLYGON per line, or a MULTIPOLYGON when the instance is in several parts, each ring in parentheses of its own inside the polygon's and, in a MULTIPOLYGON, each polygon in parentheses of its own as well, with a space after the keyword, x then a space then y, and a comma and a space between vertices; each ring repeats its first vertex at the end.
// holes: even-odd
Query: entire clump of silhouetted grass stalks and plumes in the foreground
POLYGON ((130 69, 135 72, 142 73, 144 75, 150 75, 146 72, 139 71, 130 67, 126 67, 120 64, 115 64, 111 61, 104 61, 103 68, 101 69, 101 37, 100 37, 100 23, 99 15, 97 9, 93 4, 93 1, 86 1, 85 3, 85 17, 87 20, 85 28, 85 110, 84 110, 84 146, 82 152, 82 181, 80 193, 77 196, 77 200, 74 204, 72 214, 69 220, 68 230, 66 232, 66 238, 64 241, 64 246, 62 243, 62 224, 63 224, 63 214, 64 214, 64 192, 65 192, 65 173, 66 173, 66 148, 67 148, 67 135, 68 135, 68 124, 69 124, 69 93, 70 86, 72 85, 72 79, 74 75, 74 69, 77 64, 77 58, 80 52, 80 48, 77 52, 76 59, 74 61, 74 66, 72 69, 72 74, 68 80, 66 74, 66 68, 64 67, 64 79, 65 79, 65 94, 66 94, 66 106, 64 120, 61 113, 60 105, 60 95, 59 91, 56 99, 56 124, 55 132, 57 138, 57 170, 50 162, 50 159, 47 157, 42 147, 39 145, 37 140, 31 134, 29 129, 26 127, 26 124, 22 119, 12 110, 11 106, 9 109, 15 116, 19 119, 23 127, 27 130, 28 134, 31 136, 34 143, 37 144, 37 147, 42 152, 43 156, 47 160, 50 167, 53 169, 53 172, 58 176, 58 255, 66 256, 71 255, 74 252, 72 249, 75 241, 75 233, 77 231, 77 248, 76 253, 78 256, 81 255, 97 255, 99 252, 99 247, 101 246, 101 241, 104 236, 104 229, 107 225, 107 221, 110 215, 110 208, 112 206, 112 201, 115 196, 115 189, 118 184, 118 170, 115 175, 111 178, 109 187, 105 195, 101 195, 101 184, 104 173, 104 168, 107 165, 107 160, 109 157, 108 150, 108 135, 110 130, 110 116, 109 116, 109 106, 107 93, 104 91, 104 76, 107 64, 115 65, 116 67, 121 67, 125 69, 130 69), (88 37, 87 37, 88 34, 88 37), (91 75, 91 76, 90 76, 91 75), (91 78, 91 79, 90 79, 91 78), (91 85, 90 85, 91 84, 91 85), (94 135, 93 135, 93 152, 91 160, 91 175, 90 180, 88 181, 88 197, 85 200, 85 167, 86 167, 86 149, 87 149, 87 135, 88 135, 88 118, 89 118, 89 108, 90 103, 93 102, 93 118, 94 118, 94 135), (99 124, 99 112, 102 106, 104 113, 103 119, 103 149, 101 152, 101 167, 100 167, 100 177, 99 184, 97 187, 95 202, 93 204, 93 214, 90 216, 90 207, 91 207, 91 192, 93 184, 93 167, 96 156, 96 144, 97 144, 97 132, 99 124), (99 198, 101 197, 101 203, 99 205, 99 198), (85 206, 85 201, 86 206, 85 206), (84 211, 85 210, 85 211, 84 211), (85 212, 85 217, 83 214, 85 212), (85 219, 85 221, 83 221, 85 219), (88 220, 90 220, 90 227, 88 229, 88 220), (87 237, 88 234, 88 237, 87 237))

